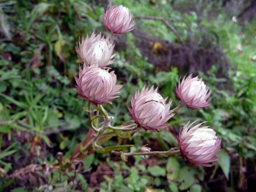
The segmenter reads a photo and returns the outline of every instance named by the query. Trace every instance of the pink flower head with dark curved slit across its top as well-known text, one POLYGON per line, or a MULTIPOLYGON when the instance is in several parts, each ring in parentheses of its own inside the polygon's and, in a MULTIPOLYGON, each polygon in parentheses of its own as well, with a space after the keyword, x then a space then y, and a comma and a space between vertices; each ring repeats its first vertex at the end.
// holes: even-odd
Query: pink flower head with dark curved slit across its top
POLYGON ((157 130, 165 128, 168 121, 174 114, 169 111, 171 102, 166 104, 166 99, 163 99, 157 88, 143 88, 142 91, 137 91, 135 97, 131 98, 130 117, 139 126, 145 130, 157 130))

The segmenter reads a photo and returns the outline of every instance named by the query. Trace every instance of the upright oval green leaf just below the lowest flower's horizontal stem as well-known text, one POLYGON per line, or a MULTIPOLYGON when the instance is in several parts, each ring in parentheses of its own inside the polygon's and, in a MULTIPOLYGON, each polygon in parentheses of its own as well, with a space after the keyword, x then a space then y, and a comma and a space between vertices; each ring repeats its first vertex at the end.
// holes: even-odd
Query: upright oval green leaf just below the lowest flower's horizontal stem
POLYGON ((168 180, 176 180, 180 171, 180 164, 177 159, 169 157, 166 164, 167 178, 168 180))

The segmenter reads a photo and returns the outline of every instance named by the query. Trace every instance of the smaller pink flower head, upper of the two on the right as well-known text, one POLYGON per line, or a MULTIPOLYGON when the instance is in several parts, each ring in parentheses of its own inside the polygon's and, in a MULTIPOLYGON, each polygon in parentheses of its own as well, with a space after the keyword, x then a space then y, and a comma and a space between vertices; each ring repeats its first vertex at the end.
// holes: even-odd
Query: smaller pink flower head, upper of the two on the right
POLYGON ((207 100, 211 91, 206 88, 202 79, 198 77, 192 78, 192 75, 187 78, 184 77, 176 86, 175 92, 178 99, 190 108, 200 109, 211 103, 211 99, 207 100))

